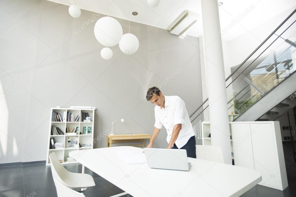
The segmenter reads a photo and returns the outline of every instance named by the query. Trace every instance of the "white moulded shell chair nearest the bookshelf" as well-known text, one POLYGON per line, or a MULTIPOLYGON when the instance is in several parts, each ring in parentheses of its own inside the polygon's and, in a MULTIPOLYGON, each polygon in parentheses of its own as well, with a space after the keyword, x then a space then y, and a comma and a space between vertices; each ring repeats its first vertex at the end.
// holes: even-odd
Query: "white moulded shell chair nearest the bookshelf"
POLYGON ((56 178, 60 183, 70 189, 81 188, 82 191, 87 187, 95 186, 94 179, 89 174, 69 172, 62 166, 53 152, 49 155, 50 166, 52 169, 52 177, 56 178))

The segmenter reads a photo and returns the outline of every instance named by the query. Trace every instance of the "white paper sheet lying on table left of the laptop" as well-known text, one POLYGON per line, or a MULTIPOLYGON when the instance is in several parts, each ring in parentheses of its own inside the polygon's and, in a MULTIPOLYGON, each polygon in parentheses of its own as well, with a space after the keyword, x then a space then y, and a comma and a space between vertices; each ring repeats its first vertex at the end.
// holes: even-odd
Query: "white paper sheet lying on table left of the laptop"
POLYGON ((118 157, 125 162, 126 165, 147 163, 145 153, 140 151, 118 151, 118 157))

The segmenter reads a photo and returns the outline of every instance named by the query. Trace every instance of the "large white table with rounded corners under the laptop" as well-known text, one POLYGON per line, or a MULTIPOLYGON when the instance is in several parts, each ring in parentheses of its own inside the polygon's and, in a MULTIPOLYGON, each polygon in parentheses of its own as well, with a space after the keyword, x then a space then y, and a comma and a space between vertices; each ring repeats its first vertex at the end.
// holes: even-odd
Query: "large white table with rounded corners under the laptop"
POLYGON ((134 197, 234 197, 262 180, 255 170, 202 159, 188 158, 190 170, 178 171, 149 168, 147 163, 126 165, 118 157, 120 151, 142 150, 117 146, 73 151, 70 157, 134 197))

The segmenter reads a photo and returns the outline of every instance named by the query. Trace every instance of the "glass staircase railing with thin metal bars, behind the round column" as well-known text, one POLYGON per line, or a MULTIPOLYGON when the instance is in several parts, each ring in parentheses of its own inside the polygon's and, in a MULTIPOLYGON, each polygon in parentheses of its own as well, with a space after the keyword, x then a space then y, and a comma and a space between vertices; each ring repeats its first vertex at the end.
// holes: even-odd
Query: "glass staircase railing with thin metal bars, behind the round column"
MULTIPOLYGON (((226 78, 229 121, 244 113, 296 70, 296 9, 226 78)), ((190 115, 197 138, 209 121, 208 99, 190 115)))

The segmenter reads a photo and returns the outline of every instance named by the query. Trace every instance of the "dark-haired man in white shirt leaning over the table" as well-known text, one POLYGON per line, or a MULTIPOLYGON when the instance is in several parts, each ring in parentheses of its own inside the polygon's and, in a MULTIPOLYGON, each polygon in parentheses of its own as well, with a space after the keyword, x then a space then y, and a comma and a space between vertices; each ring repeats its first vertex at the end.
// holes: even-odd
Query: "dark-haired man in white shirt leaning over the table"
POLYGON ((168 133, 167 148, 185 149, 187 157, 196 158, 195 134, 184 101, 178 96, 163 95, 158 87, 149 88, 146 99, 156 105, 153 134, 147 148, 152 148, 164 126, 168 133))

